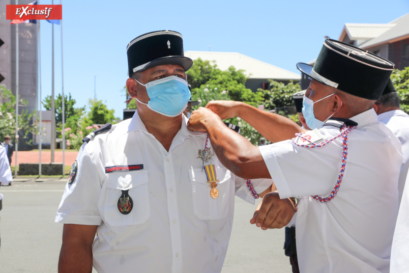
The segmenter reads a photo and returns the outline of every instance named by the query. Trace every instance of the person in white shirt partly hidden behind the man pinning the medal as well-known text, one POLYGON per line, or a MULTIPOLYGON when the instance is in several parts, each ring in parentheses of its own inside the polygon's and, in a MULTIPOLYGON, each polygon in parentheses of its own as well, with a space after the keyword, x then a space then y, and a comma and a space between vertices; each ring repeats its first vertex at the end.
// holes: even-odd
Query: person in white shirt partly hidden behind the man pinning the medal
POLYGON ((399 96, 389 79, 382 97, 373 104, 378 120, 386 125, 402 145, 403 162, 399 175, 399 204, 409 169, 409 115, 400 110, 399 96))

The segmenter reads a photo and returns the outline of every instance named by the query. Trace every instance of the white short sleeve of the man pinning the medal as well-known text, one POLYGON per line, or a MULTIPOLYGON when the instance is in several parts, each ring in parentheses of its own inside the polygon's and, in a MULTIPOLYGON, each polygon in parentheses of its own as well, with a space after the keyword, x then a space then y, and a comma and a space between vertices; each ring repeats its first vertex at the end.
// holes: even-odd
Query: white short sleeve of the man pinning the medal
POLYGON ((328 196, 337 182, 336 170, 341 169, 342 162, 342 143, 338 140, 317 148, 299 147, 288 140, 259 149, 280 198, 328 196))

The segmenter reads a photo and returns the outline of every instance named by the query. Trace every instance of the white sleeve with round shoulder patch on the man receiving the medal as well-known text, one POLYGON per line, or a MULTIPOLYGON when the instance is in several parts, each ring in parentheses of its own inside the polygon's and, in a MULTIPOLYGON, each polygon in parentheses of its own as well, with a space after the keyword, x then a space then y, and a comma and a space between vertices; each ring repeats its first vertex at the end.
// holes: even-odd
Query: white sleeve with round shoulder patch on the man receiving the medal
POLYGON ((91 156, 87 145, 82 145, 78 152, 77 174, 71 184, 67 182, 55 216, 57 223, 96 226, 102 223, 98 200, 104 170, 100 157, 91 156))

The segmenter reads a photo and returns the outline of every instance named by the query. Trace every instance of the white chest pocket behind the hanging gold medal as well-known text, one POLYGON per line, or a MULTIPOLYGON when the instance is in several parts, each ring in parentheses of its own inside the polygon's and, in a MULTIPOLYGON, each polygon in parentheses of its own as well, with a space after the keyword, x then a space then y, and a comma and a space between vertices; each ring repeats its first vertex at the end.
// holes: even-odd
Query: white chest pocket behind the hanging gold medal
POLYGON ((212 198, 212 187, 211 183, 208 183, 206 172, 202 172, 201 169, 189 170, 193 210, 201 220, 216 220, 226 217, 230 199, 234 196, 234 181, 230 179, 230 171, 225 168, 216 168, 215 170, 219 180, 215 187, 218 192, 217 198, 212 198))

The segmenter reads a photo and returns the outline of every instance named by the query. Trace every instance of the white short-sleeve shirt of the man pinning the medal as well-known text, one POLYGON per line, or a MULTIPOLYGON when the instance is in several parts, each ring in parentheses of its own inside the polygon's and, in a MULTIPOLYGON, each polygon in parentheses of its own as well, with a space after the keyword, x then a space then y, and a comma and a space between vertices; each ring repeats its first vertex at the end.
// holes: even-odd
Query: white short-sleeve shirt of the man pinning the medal
MULTIPOLYGON (((348 153, 338 194, 327 203, 341 168, 341 138, 321 148, 291 140, 260 147, 281 198, 302 196, 297 212, 301 272, 389 272, 398 212, 400 143, 371 109, 351 120, 348 153), (295 171, 297 170, 297 171, 295 171)), ((324 126, 320 143, 339 134, 324 126)), ((299 140, 297 140, 299 141, 299 140)))

